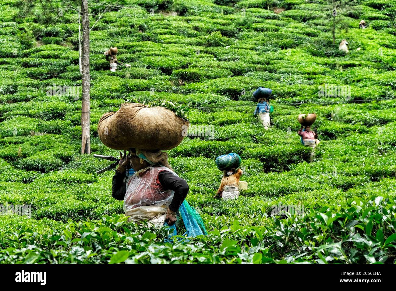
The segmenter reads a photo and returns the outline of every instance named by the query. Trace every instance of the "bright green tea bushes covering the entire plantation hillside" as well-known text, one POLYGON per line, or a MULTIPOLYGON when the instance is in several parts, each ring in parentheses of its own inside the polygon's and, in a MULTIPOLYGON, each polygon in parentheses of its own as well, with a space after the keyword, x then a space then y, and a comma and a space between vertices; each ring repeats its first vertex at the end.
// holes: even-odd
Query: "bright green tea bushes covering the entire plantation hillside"
POLYGON ((48 94, 81 86, 77 5, 0 2, 0 204, 32 205, 31 218, 0 216, 0 262, 395 263, 395 0, 340 10, 335 44, 322 0, 90 1, 90 155, 81 98, 48 94), (110 46, 131 68, 110 72, 110 46), (253 116, 259 86, 273 90, 267 131, 253 116), (166 230, 127 223, 114 171, 95 174, 110 162, 93 154, 119 155, 96 130, 122 98, 188 105, 191 126, 213 126, 168 151, 208 236, 170 244, 166 230), (312 162, 297 135, 310 112, 312 162), (215 200, 214 160, 229 152, 249 186, 215 200), (273 205, 305 215, 273 217, 273 205))

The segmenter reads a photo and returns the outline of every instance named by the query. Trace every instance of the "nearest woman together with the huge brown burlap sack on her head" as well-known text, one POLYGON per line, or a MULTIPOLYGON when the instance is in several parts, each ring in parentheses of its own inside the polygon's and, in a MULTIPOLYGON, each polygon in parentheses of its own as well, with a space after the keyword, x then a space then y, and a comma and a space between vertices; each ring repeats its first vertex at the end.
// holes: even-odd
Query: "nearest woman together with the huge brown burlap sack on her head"
POLYGON ((105 145, 124 150, 113 177, 112 196, 124 200, 128 220, 147 221, 155 227, 168 225, 174 236, 180 213, 187 230, 183 236, 194 237, 207 234, 204 223, 185 200, 187 182, 173 171, 168 154, 162 152, 183 140, 182 125, 188 127, 188 121, 164 107, 124 103, 117 112, 102 116, 98 134, 105 145), (179 136, 177 141, 169 140, 179 136))

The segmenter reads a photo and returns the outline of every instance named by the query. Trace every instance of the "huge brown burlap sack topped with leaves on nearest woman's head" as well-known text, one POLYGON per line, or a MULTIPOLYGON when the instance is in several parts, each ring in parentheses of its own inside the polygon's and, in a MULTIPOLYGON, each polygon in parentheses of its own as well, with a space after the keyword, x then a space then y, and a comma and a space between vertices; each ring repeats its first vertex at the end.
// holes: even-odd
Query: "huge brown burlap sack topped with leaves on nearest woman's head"
POLYGON ((98 124, 100 140, 114 150, 170 150, 181 143, 187 129, 188 121, 175 112, 140 103, 124 103, 118 111, 103 114, 98 124))

